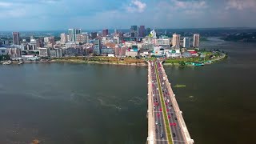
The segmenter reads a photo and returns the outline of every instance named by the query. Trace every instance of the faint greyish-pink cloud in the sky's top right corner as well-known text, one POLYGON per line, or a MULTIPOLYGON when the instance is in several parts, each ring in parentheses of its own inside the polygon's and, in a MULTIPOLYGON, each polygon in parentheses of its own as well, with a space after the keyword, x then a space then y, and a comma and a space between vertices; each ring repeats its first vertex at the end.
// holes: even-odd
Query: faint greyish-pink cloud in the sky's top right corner
POLYGON ((229 0, 226 3, 226 10, 236 9, 236 10, 244 10, 244 9, 256 9, 256 1, 255 0, 229 0))

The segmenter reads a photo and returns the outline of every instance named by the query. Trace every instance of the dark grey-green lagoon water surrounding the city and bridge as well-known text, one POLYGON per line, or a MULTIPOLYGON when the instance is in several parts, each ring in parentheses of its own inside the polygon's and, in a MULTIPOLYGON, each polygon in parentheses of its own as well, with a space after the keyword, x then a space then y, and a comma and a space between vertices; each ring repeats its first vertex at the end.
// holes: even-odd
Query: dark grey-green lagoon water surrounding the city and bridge
MULTIPOLYGON (((256 44, 210 38, 229 58, 165 66, 196 143, 251 143, 256 133, 256 44)), ((0 66, 0 143, 145 143, 147 69, 91 64, 0 66)))

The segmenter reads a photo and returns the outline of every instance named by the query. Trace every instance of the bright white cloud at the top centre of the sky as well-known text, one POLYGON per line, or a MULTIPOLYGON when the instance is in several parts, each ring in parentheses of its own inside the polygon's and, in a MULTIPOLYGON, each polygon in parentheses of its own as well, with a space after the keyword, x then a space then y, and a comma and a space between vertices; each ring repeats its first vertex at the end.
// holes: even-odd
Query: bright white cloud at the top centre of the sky
POLYGON ((145 9, 146 3, 140 2, 139 0, 133 0, 132 2, 130 2, 130 6, 126 6, 126 10, 131 13, 142 13, 145 9))

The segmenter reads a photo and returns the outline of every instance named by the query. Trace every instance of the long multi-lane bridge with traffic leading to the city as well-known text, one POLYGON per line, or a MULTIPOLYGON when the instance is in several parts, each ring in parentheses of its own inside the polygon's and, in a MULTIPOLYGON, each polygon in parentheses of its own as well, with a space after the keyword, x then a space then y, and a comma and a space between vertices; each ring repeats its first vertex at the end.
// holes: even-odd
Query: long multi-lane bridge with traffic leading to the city
POLYGON ((192 144, 186 123, 162 62, 148 62, 148 138, 149 144, 192 144))

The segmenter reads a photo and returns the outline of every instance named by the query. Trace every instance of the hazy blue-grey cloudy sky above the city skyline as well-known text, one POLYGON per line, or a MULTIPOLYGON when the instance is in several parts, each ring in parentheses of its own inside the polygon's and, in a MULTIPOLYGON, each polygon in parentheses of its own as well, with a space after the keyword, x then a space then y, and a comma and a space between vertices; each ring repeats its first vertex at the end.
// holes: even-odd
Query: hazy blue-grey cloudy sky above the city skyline
POLYGON ((256 27, 256 0, 0 0, 0 31, 256 27))

